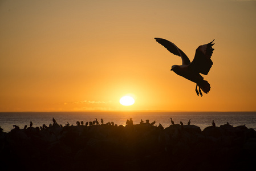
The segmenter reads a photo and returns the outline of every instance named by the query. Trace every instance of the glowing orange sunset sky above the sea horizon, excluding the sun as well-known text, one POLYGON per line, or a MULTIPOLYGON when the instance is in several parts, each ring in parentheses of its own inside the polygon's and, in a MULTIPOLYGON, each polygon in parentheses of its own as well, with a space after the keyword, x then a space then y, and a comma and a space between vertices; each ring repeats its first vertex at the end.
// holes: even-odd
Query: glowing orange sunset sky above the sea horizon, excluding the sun
POLYGON ((256 1, 1 0, 0 112, 256 111, 255 18, 256 1), (155 37, 191 61, 215 39, 207 95, 155 37))

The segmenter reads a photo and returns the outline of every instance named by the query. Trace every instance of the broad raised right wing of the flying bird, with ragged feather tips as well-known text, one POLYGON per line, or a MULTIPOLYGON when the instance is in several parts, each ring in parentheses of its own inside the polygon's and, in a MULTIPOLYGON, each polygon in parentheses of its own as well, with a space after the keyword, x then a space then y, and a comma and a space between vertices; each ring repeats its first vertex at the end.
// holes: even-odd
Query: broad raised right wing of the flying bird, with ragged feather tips
POLYGON ((194 59, 188 66, 191 70, 204 75, 208 74, 213 65, 212 59, 210 59, 214 50, 214 48, 212 48, 214 44, 213 41, 197 48, 194 59))

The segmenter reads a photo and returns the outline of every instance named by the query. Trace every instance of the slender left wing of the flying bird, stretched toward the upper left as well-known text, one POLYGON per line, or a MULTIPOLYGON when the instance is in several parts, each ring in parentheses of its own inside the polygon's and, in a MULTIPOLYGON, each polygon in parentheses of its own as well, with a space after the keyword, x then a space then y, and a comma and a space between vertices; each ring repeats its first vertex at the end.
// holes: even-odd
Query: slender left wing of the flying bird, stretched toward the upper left
POLYGON ((174 43, 161 38, 155 38, 155 39, 156 39, 156 42, 159 42, 160 44, 162 44, 162 46, 167 48, 167 50, 170 51, 172 54, 181 56, 182 65, 190 64, 190 60, 188 56, 186 56, 186 54, 184 54, 184 52, 182 52, 182 50, 180 50, 174 43))

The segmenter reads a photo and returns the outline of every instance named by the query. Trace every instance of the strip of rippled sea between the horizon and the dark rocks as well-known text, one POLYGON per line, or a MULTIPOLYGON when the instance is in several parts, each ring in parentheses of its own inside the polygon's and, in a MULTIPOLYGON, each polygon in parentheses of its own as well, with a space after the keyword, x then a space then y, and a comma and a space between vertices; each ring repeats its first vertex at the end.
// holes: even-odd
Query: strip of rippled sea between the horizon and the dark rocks
POLYGON ((95 118, 100 123, 100 119, 104 123, 114 122, 117 125, 125 125, 126 120, 132 118, 133 124, 139 124, 143 119, 145 122, 149 119, 149 123, 156 121, 155 125, 162 124, 164 128, 169 127, 170 117, 174 124, 188 124, 191 119, 192 125, 197 125, 203 131, 204 128, 212 125, 212 120, 217 127, 229 122, 230 125, 236 127, 238 125, 246 125, 247 128, 256 130, 256 112, 0 112, 0 126, 3 132, 10 132, 13 125, 23 128, 25 125, 29 127, 32 121, 32 127, 40 127, 43 124, 47 126, 52 124, 52 117, 58 124, 63 126, 68 123, 76 125, 76 121, 93 121, 95 118))

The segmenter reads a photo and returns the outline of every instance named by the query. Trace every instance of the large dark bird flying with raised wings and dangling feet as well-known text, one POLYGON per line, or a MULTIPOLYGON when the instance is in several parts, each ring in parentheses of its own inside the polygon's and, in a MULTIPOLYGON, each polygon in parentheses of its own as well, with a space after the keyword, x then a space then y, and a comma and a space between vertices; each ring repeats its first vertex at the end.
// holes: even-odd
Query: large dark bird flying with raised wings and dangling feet
POLYGON ((162 44, 162 46, 167 48, 167 50, 172 54, 178 55, 182 59, 182 65, 173 65, 170 71, 173 71, 177 75, 183 76, 184 78, 196 83, 197 96, 199 96, 199 93, 202 96, 201 89, 207 94, 210 91, 210 84, 204 80, 200 73, 207 75, 213 65, 212 59, 210 58, 214 50, 214 48, 212 48, 214 40, 208 44, 199 46, 196 50, 193 61, 190 63, 188 56, 186 56, 186 54, 175 44, 165 39, 155 39, 156 42, 162 44), (199 92, 197 90, 197 86, 199 87, 199 92))

